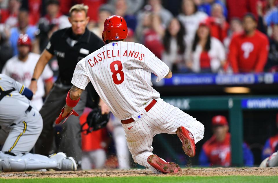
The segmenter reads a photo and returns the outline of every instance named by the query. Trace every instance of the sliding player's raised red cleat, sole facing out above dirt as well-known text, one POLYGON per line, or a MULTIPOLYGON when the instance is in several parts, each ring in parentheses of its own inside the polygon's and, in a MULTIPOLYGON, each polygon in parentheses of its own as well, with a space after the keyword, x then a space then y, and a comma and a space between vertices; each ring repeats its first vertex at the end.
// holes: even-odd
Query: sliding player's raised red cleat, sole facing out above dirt
POLYGON ((182 149, 185 152, 185 154, 189 157, 195 156, 195 140, 191 132, 189 132, 186 128, 183 126, 180 126, 176 134, 180 138, 180 141, 182 142, 182 149))

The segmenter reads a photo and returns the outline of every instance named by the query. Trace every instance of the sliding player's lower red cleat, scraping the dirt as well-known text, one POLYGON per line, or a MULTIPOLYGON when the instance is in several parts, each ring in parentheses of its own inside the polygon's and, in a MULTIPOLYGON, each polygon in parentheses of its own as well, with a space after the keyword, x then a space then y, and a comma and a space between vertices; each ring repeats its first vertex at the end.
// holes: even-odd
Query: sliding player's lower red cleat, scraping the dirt
POLYGON ((152 154, 148 157, 148 163, 153 166, 153 168, 165 174, 177 174, 182 172, 182 169, 179 167, 179 165, 175 164, 174 162, 165 162, 155 154, 152 154))

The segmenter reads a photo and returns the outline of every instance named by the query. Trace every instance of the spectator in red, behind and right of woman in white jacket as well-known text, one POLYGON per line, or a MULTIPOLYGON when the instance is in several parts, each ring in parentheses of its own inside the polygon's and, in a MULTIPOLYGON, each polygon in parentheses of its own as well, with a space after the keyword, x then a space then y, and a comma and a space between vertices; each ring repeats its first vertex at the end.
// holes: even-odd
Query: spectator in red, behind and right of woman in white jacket
POLYGON ((223 14, 223 7, 220 4, 215 3, 212 6, 211 17, 206 21, 209 21, 210 23, 211 36, 223 42, 228 36, 229 29, 229 24, 226 22, 226 18, 223 14))

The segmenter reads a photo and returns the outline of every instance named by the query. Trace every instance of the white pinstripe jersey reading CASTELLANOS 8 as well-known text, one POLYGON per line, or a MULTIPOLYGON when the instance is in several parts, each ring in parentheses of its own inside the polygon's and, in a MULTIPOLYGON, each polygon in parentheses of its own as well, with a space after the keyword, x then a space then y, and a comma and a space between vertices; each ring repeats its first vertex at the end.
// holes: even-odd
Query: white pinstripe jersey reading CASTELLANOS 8
POLYGON ((142 44, 111 42, 78 62, 72 84, 85 89, 91 81, 111 112, 126 119, 160 97, 152 87, 151 73, 158 82, 168 72, 169 67, 142 44))

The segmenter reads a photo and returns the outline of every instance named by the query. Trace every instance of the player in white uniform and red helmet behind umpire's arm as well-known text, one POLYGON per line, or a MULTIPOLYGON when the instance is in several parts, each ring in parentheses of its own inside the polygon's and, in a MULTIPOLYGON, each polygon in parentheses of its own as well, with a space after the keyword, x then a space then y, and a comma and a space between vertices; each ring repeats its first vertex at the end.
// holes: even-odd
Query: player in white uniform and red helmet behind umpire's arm
MULTIPOLYGON (((19 36, 17 40, 17 49, 18 55, 15 55, 6 62, 2 74, 10 76, 25 86, 29 86, 40 55, 31 52, 32 42, 27 34, 21 34, 19 36)), ((43 96, 45 93, 48 93, 52 87, 52 76, 52 70, 46 65, 41 77, 38 79, 38 91, 32 98, 32 103, 38 110, 43 106, 43 96)))

